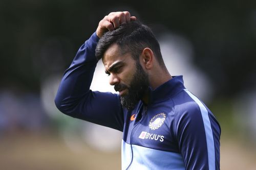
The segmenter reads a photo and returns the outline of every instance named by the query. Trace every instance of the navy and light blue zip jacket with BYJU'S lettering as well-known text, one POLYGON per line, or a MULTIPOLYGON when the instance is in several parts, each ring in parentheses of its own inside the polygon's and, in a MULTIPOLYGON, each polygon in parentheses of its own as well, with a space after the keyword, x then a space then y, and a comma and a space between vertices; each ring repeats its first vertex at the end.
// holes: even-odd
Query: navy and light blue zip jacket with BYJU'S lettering
POLYGON ((133 111, 118 94, 90 90, 97 64, 94 33, 78 50, 55 104, 72 117, 123 132, 122 169, 220 169, 220 125, 211 111, 173 77, 133 111))

